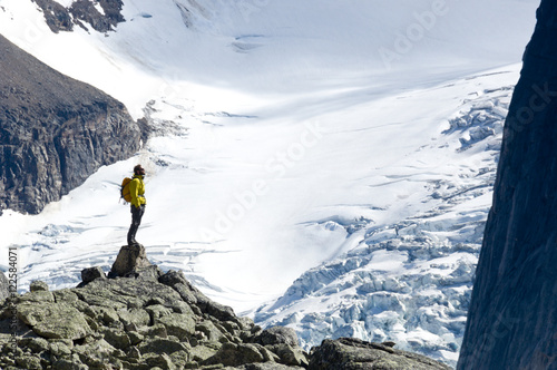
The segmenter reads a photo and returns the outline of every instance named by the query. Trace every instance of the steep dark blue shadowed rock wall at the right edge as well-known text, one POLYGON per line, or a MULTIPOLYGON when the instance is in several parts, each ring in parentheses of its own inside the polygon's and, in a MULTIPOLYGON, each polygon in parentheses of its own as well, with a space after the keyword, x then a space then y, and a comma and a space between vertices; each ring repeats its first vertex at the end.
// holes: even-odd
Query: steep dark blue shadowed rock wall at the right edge
POLYGON ((506 121, 458 369, 557 368, 557 2, 543 0, 506 121))

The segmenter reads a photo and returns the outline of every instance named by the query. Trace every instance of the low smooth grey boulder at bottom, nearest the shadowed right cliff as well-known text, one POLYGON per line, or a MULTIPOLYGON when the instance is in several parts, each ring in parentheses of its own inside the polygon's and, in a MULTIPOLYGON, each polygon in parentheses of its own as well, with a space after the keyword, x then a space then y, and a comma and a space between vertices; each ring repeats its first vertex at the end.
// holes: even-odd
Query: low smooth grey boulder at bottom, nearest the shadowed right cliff
POLYGON ((377 343, 341 338, 324 340, 311 353, 310 370, 450 370, 424 356, 377 343))

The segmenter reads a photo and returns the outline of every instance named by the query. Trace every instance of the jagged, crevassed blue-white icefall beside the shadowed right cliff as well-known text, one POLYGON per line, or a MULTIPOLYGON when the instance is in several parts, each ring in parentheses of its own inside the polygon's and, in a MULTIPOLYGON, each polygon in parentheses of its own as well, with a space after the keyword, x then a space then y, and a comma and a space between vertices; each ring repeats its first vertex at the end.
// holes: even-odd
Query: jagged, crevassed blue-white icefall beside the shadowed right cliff
POLYGON ((417 94, 460 106, 438 136, 362 179, 372 188, 367 217, 321 221, 346 231, 348 252, 305 272, 257 322, 291 325, 306 347, 392 340, 456 364, 512 93, 505 82, 516 79, 495 74, 417 94))

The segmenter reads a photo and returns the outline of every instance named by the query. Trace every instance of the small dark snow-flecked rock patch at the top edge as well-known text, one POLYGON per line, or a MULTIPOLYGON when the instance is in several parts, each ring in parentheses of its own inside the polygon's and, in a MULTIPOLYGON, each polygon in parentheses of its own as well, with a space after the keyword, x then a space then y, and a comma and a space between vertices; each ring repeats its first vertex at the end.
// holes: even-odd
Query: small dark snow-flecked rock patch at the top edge
POLYGON ((121 0, 76 0, 69 8, 62 7, 55 0, 32 0, 42 10, 48 27, 55 33, 71 31, 74 25, 88 30, 89 25, 98 32, 108 32, 123 22, 121 0), (101 8, 102 11, 96 7, 101 8))

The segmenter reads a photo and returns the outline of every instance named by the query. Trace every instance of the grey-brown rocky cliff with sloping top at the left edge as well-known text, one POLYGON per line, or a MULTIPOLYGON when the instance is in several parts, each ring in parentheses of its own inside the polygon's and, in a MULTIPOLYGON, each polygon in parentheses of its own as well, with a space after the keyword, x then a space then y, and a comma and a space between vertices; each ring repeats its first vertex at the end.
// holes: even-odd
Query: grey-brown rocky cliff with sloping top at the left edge
POLYGON ((0 36, 0 212, 40 212, 131 156, 140 134, 121 103, 0 36))

